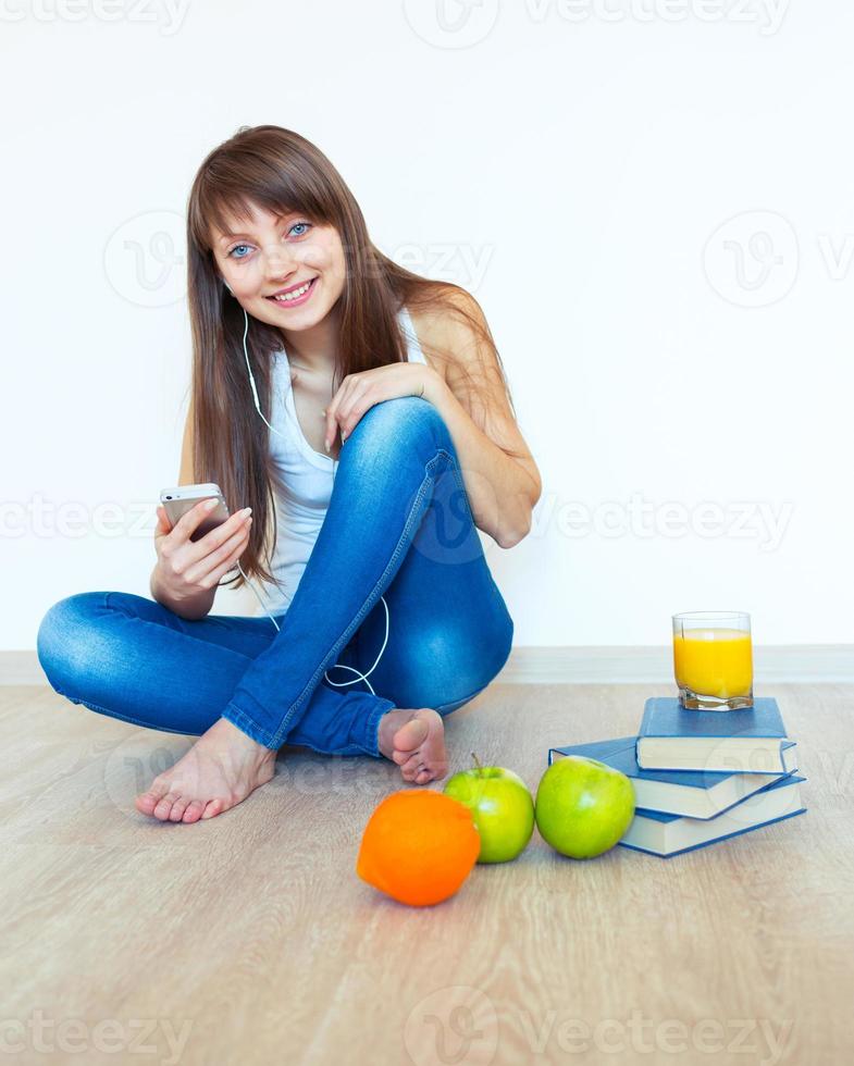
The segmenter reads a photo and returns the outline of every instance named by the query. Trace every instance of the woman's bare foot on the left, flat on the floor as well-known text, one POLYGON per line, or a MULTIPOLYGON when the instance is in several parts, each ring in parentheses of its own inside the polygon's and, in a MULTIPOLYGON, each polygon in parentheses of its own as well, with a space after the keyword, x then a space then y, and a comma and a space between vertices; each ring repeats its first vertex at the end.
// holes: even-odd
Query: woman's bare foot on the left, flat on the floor
POLYGON ((272 748, 221 718, 136 797, 136 809, 160 821, 213 818, 265 784, 275 773, 275 757, 272 748))

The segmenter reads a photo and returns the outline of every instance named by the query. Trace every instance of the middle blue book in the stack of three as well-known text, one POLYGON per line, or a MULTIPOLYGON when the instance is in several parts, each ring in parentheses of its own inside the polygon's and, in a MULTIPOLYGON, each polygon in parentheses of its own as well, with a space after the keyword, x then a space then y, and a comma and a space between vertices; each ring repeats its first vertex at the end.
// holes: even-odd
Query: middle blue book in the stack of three
MULTIPOLYGON (((635 802, 646 810, 688 815, 690 818, 715 818, 721 811, 741 803, 781 773, 717 773, 698 770, 644 770, 635 758, 636 736, 621 736, 615 741, 597 741, 595 744, 573 744, 569 747, 552 747, 548 765, 566 755, 581 755, 606 763, 630 778, 634 786, 635 802)), ((797 768, 795 742, 784 742, 785 773, 797 768)))

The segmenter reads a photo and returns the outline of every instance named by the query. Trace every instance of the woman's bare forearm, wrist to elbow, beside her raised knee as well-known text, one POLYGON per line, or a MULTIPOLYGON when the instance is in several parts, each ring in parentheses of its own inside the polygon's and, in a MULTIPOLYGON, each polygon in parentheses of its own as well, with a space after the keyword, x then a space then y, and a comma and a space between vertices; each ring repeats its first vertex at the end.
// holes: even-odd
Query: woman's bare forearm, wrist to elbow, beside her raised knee
POLYGON ((533 479, 474 424, 438 374, 430 376, 424 399, 448 427, 474 524, 503 548, 518 544, 531 529, 536 497, 533 479))

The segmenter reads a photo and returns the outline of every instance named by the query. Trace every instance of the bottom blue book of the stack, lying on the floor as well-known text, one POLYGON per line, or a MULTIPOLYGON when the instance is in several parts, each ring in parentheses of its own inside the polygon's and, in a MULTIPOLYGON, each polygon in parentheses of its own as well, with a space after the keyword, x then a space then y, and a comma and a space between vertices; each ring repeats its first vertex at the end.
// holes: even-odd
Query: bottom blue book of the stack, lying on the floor
POLYGON ((804 780, 795 774, 779 778, 717 818, 680 818, 679 815, 639 808, 620 844, 670 858, 671 855, 682 855, 695 847, 748 833, 760 826, 794 818, 806 811, 801 802, 801 782, 804 780))

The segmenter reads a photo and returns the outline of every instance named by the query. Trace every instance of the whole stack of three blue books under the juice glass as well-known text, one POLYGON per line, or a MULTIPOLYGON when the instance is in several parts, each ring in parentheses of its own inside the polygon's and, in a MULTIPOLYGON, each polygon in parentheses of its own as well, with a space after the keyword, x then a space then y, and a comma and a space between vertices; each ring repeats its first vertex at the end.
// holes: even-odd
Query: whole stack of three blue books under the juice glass
POLYGON ((681 855, 806 811, 797 746, 771 698, 728 711, 647 699, 636 736, 552 747, 548 765, 567 755, 630 778, 636 807, 620 844, 653 855, 681 855))

